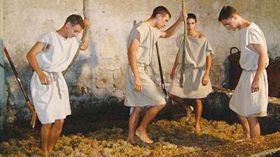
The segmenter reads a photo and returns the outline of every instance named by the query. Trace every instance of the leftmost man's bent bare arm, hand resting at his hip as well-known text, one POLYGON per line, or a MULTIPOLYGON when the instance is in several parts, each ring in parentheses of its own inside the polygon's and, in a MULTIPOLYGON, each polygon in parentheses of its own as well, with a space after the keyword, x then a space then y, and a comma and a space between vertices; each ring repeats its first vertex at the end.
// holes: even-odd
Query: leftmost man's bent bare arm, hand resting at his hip
POLYGON ((38 62, 36 60, 36 55, 44 48, 45 43, 37 42, 27 53, 27 61, 29 62, 31 68, 33 68, 38 74, 41 84, 50 84, 50 79, 47 75, 45 75, 45 73, 43 73, 43 70, 38 66, 38 62))

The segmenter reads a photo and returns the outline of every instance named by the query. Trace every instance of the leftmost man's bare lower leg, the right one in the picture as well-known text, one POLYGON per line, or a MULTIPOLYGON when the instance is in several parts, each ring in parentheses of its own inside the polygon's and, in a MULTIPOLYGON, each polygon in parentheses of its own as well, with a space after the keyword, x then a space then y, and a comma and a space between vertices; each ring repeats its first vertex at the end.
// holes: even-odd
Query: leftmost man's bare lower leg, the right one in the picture
POLYGON ((50 142, 48 143, 49 151, 52 151, 53 147, 55 147, 55 143, 57 142, 60 133, 62 132, 62 126, 64 124, 64 119, 57 119, 55 123, 52 125, 52 130, 50 133, 50 142))

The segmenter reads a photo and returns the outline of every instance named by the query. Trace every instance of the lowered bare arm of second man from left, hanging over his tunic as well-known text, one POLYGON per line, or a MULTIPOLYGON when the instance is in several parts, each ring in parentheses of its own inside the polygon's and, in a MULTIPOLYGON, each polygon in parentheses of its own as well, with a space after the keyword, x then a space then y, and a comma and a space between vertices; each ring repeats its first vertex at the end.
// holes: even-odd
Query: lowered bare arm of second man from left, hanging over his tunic
POLYGON ((134 91, 140 92, 143 89, 142 80, 139 74, 139 70, 137 67, 137 49, 140 45, 140 34, 137 35, 137 38, 133 39, 130 43, 130 47, 128 48, 127 56, 128 61, 130 63, 130 68, 132 69, 132 73, 134 75, 134 91))

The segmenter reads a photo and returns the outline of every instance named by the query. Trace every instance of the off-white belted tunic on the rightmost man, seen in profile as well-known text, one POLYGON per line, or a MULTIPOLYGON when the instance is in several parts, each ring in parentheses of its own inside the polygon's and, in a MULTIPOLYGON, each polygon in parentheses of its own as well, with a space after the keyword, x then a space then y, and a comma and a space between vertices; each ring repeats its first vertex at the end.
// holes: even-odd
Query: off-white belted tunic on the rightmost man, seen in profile
MULTIPOLYGON (((259 54, 248 49, 249 44, 264 45, 267 53, 265 35, 253 22, 250 26, 240 29, 241 56, 239 63, 243 71, 230 99, 230 109, 243 117, 265 117, 268 104, 267 72, 264 70, 260 78, 260 90, 252 93, 251 84, 258 68, 259 54)), ((267 57, 267 66, 268 61, 267 57)))

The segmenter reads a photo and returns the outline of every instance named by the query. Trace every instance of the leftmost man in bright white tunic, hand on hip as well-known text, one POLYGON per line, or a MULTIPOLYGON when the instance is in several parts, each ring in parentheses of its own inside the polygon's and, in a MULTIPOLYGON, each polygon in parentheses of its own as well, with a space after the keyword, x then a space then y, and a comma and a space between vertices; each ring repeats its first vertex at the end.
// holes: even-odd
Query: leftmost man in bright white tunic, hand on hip
MULTIPOLYGON (((27 54, 29 65, 34 69, 31 94, 42 124, 43 156, 48 156, 55 147, 64 119, 71 114, 68 87, 62 71, 69 66, 78 50, 78 33, 89 25, 87 18, 83 20, 80 15, 70 15, 61 29, 41 35, 27 54)), ((86 50, 87 44, 85 36, 80 50, 86 50)))

